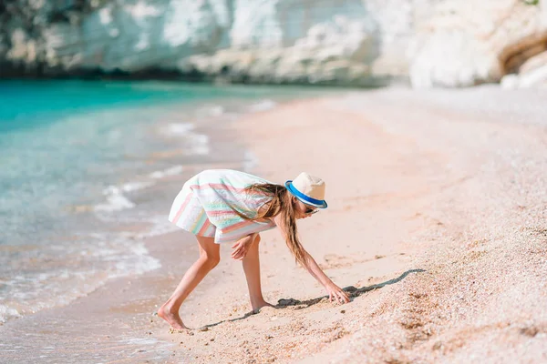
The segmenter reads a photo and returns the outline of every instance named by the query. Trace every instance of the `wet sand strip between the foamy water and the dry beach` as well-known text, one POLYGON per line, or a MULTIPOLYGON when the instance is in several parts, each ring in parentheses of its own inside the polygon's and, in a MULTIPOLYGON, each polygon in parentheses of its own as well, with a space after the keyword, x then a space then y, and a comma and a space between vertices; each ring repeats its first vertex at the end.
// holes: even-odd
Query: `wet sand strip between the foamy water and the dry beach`
MULTIPOLYGON (((209 139, 208 143, 212 148, 210 157, 194 158, 193 163, 185 164, 182 167, 181 173, 167 174, 158 179, 153 186, 129 193, 129 199, 137 201, 140 205, 146 203, 154 195, 167 194, 166 189, 172 189, 173 193, 171 195, 174 198, 176 196, 175 192, 180 189, 187 177, 193 174, 192 171, 203 168, 231 167, 247 169, 253 167, 253 156, 244 152, 241 141, 234 138, 231 125, 237 123, 238 119, 242 117, 242 112, 243 115, 252 115, 256 112, 262 112, 261 109, 270 109, 284 102, 286 101, 277 100, 274 96, 236 100, 235 103, 228 100, 224 104, 234 104, 234 107, 241 109, 235 114, 235 118, 232 116, 232 111, 230 111, 232 106, 228 107, 229 112, 227 114, 201 116, 203 120, 198 123, 199 125, 196 125, 196 132, 207 136, 209 139)), ((206 101, 199 109, 214 105, 216 103, 206 101)), ((198 116, 196 114, 195 117, 198 116)), ((163 122, 162 124, 166 123, 163 122)), ((158 127, 154 126, 156 129, 158 127)), ((168 147, 167 150, 172 148, 168 147)), ((150 162, 153 160, 170 161, 181 153, 176 149, 173 150, 172 153, 161 152, 151 156, 150 162)), ((129 182, 131 181, 123 180, 123 178, 119 181, 122 184, 129 182)), ((88 211, 88 207, 78 208, 82 212, 88 211)), ((165 220, 167 221, 169 206, 166 208, 165 220)), ((111 225, 111 223, 109 224, 111 225)), ((7 320, 3 325, 0 325, 3 335, 18 339, 6 341, 5 347, 0 348, 0 351, 5 352, 6 359, 9 358, 11 362, 26 362, 29 358, 39 357, 54 358, 55 360, 67 362, 71 360, 81 362, 79 360, 86 361, 94 358, 95 360, 109 362, 117 357, 116 348, 123 348, 123 352, 126 353, 129 361, 167 360, 172 357, 170 351, 172 345, 168 341, 155 336, 158 330, 169 331, 167 324, 155 315, 155 311, 169 297, 184 271, 198 257, 197 244, 190 233, 186 233, 181 229, 177 229, 175 232, 148 236, 147 231, 152 227, 150 224, 143 225, 128 220, 128 222, 118 225, 119 227, 116 227, 113 233, 119 230, 126 238, 134 236, 134 238, 141 240, 144 247, 147 248, 150 258, 159 259, 161 267, 137 276, 108 278, 98 288, 72 300, 67 305, 46 308, 36 313, 7 320), (77 329, 63 323, 63 321, 67 321, 73 323, 73 325, 83 324, 84 322, 80 321, 82 312, 91 315, 89 319, 85 319, 85 327, 77 329), (59 321, 60 318, 64 318, 63 321, 59 321), (113 324, 111 323, 112 320, 114 320, 113 324), (40 326, 49 332, 47 336, 36 334, 32 335, 33 339, 25 339, 26 333, 32 333, 40 326), (70 334, 68 335, 68 333, 70 334), (96 354, 78 346, 78 342, 83 339, 84 335, 98 340, 95 345, 96 354), (56 344, 50 345, 53 341, 56 344), (60 349, 58 347, 59 343, 66 349, 60 349), (40 349, 41 347, 55 349, 40 349), (158 349, 158 352, 155 352, 156 349, 158 349)), ((190 308, 193 306, 199 308, 201 292, 208 290, 220 278, 222 278, 222 271, 215 269, 201 282, 200 287, 194 292, 195 294, 188 299, 188 306, 190 308)), ((244 284, 244 281, 242 283, 244 284)), ((192 312, 191 309, 188 310, 189 324, 199 325, 201 322, 204 325, 209 322, 203 319, 196 320, 195 315, 197 313, 192 312)), ((222 317, 218 318, 218 320, 221 319, 222 317)), ((44 329, 38 329, 38 332, 42 332, 44 329)))

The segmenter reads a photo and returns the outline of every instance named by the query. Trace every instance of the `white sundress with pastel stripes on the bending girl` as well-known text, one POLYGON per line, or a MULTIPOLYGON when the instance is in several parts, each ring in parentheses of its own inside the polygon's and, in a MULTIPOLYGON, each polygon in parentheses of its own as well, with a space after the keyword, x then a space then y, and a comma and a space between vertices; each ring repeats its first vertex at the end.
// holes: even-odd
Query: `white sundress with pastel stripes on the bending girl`
POLYGON ((244 188, 255 183, 271 183, 263 178, 231 169, 205 170, 191 177, 181 189, 170 209, 169 220, 194 235, 228 243, 275 227, 269 219, 252 221, 247 217, 271 197, 249 194, 244 188))

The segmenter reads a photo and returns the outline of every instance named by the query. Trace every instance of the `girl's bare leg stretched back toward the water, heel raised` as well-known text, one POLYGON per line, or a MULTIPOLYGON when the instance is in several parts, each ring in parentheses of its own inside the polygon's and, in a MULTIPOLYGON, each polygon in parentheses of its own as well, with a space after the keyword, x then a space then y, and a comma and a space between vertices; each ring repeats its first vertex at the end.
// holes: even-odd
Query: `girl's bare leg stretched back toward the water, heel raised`
POLYGON ((181 308, 184 299, 190 295, 191 291, 198 286, 207 273, 212 268, 216 267, 221 260, 220 247, 215 244, 214 238, 198 237, 198 243, 200 245, 200 258, 191 265, 184 276, 181 279, 181 283, 175 289, 171 297, 165 302, 158 310, 158 316, 161 319, 165 319, 170 326, 174 329, 188 329, 184 323, 182 323, 181 316, 179 316, 179 309, 181 308))

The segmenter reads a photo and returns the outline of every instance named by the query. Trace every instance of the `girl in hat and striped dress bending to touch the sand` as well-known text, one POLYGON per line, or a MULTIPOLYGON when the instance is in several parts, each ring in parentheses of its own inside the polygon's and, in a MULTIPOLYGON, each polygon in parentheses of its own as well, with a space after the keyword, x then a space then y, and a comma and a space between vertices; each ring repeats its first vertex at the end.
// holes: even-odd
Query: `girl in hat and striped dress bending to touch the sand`
POLYGON ((296 219, 325 208, 325 182, 301 173, 284 186, 263 178, 229 170, 206 170, 191 177, 175 198, 169 220, 193 233, 200 258, 188 269, 171 297, 158 310, 174 329, 188 329, 179 316, 181 304, 219 261, 222 243, 232 245, 232 258, 243 261, 254 312, 272 306, 263 298, 258 257, 259 233, 279 227, 294 258, 326 289, 329 299, 349 302, 346 292, 333 283, 298 239, 296 219))

